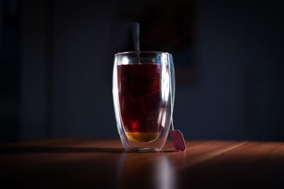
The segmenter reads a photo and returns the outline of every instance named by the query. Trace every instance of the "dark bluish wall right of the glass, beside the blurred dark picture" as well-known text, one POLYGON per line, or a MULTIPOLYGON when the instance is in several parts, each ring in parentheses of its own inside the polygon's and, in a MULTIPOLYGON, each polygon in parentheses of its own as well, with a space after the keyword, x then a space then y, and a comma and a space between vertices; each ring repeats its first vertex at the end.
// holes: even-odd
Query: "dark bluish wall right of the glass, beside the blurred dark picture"
POLYGON ((198 1, 198 84, 180 88, 188 138, 283 140, 283 12, 275 1, 198 1))

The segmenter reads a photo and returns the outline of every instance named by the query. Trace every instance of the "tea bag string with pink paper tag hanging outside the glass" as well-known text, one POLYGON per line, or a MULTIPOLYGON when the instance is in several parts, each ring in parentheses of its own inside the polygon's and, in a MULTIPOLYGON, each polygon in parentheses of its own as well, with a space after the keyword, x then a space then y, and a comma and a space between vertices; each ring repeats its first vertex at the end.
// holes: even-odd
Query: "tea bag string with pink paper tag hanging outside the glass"
POLYGON ((175 88, 172 86, 172 76, 171 76, 171 69, 173 69, 174 73, 174 67, 170 67, 170 55, 168 55, 168 63, 169 63, 169 72, 170 72, 170 110, 172 111, 170 115, 170 124, 172 125, 172 130, 170 130, 170 137, 173 141, 173 146, 175 147, 176 151, 185 151, 186 145, 185 145, 185 139, 182 135, 182 132, 180 130, 175 130, 173 127, 173 106, 174 106, 174 95, 175 95, 175 88))

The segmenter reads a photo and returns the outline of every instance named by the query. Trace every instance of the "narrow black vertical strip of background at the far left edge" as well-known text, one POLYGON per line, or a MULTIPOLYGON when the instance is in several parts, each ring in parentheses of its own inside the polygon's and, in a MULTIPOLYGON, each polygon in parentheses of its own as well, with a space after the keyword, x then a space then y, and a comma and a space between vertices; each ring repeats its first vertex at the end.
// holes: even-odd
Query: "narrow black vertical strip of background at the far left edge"
POLYGON ((20 138, 20 30, 16 1, 0 0, 0 142, 20 138))

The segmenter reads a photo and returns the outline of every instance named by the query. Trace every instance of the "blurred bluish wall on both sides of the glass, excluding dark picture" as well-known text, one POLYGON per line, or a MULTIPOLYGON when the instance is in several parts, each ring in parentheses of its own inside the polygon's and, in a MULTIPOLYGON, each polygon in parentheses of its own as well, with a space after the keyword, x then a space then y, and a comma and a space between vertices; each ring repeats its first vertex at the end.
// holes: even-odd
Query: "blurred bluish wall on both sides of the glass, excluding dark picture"
MULTIPOLYGON (((119 137, 111 96, 116 4, 22 3, 18 140, 119 137)), ((283 141, 280 6, 200 0, 196 12, 197 82, 177 83, 175 127, 186 139, 283 141)))

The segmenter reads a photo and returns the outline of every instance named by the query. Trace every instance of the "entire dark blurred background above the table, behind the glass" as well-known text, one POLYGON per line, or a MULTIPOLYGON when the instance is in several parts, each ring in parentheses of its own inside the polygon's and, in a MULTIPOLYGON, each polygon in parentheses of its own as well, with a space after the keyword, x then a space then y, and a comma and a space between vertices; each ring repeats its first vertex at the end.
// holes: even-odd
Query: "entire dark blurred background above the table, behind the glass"
POLYGON ((141 50, 173 54, 186 139, 284 141, 279 2, 0 0, 0 142, 119 137, 112 66, 133 21, 141 50))

